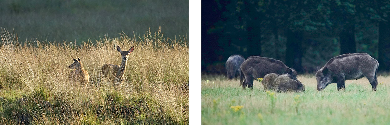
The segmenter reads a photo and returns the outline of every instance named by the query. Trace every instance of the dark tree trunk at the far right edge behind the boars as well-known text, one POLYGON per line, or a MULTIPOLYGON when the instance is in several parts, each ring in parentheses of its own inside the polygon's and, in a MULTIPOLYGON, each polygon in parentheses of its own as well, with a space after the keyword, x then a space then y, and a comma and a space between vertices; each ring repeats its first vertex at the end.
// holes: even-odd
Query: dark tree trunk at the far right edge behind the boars
POLYGON ((379 22, 378 38, 378 63, 380 71, 390 71, 390 25, 387 22, 379 22))

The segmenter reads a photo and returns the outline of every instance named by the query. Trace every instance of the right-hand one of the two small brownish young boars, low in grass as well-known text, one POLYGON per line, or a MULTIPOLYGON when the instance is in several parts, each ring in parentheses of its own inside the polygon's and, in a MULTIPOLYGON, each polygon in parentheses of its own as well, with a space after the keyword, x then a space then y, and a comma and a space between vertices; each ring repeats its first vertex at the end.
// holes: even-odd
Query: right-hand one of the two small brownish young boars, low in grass
POLYGON ((274 86, 277 92, 305 92, 305 86, 290 74, 278 76, 274 86))

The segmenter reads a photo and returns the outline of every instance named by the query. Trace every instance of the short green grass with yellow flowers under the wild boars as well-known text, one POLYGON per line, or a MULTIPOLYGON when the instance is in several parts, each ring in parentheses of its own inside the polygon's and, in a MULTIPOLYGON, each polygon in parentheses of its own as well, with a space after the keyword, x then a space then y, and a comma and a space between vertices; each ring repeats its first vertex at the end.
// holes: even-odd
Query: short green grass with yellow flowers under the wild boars
POLYGON ((239 80, 202 76, 202 124, 390 124, 390 76, 378 76, 373 92, 366 78, 316 90, 313 75, 298 75, 305 92, 264 92, 239 86, 239 80))

